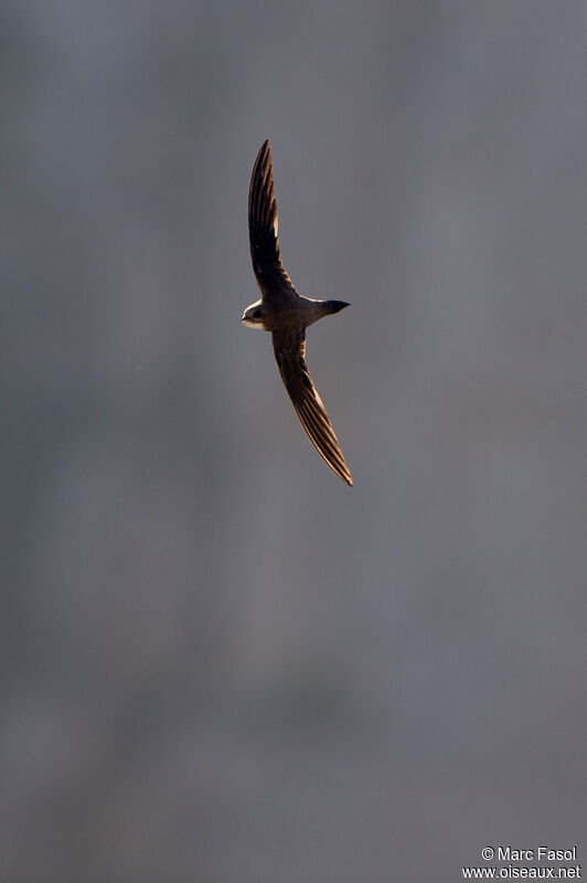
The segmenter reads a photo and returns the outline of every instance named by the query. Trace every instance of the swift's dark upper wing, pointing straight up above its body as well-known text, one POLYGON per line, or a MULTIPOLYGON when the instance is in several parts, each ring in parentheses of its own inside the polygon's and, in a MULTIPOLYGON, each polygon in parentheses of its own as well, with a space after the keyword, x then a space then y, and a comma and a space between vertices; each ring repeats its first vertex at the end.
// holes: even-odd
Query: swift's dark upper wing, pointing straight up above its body
POLYGON ((263 296, 278 296, 279 292, 294 288, 279 254, 277 200, 269 141, 265 141, 257 154, 250 176, 248 236, 253 270, 263 296))

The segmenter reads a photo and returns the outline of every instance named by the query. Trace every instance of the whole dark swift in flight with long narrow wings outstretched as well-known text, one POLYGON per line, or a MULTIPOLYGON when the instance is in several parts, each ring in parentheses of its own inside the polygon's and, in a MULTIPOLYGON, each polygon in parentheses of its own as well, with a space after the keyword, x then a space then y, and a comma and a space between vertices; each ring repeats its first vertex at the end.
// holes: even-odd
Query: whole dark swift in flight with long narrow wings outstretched
POLYGON ((253 270, 262 298, 241 322, 270 332, 281 380, 316 450, 339 479, 352 486, 351 471, 306 365, 306 328, 339 313, 344 301, 317 301, 298 294, 279 253, 271 148, 265 141, 253 167, 248 191, 248 234, 253 270))

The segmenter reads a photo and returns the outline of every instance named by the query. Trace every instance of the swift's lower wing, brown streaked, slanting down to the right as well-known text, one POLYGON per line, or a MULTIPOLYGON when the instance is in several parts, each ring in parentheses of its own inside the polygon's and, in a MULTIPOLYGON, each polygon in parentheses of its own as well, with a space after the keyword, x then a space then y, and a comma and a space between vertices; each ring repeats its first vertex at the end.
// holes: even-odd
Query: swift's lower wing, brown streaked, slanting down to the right
POLYGON ((296 413, 318 453, 339 479, 352 486, 351 470, 344 462, 339 440, 306 365, 306 332, 274 332, 274 353, 281 380, 296 413))

